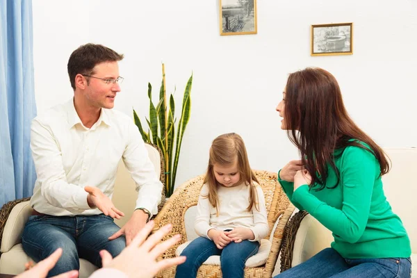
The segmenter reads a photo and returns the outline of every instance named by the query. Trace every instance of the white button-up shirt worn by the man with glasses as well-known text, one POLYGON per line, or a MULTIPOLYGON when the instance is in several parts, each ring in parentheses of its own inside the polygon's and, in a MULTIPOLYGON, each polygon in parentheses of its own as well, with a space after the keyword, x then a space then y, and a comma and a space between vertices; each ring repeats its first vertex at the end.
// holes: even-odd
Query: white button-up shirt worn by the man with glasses
POLYGON ((138 190, 136 208, 158 211, 163 185, 156 176, 138 127, 127 115, 101 108, 90 129, 81 122, 71 99, 35 117, 31 149, 38 179, 31 206, 48 215, 96 215, 87 204, 85 186, 112 197, 120 158, 138 190))

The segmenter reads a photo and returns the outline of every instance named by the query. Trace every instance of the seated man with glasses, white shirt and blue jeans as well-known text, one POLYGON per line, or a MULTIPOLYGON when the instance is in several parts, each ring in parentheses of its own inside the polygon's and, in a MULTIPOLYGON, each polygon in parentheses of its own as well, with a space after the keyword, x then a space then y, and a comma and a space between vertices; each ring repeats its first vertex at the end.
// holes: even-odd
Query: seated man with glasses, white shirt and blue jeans
POLYGON ((67 65, 74 97, 32 122, 38 179, 22 245, 35 261, 63 248, 49 276, 78 270, 79 258, 101 267, 99 251, 120 254, 158 210, 163 186, 145 143, 131 118, 112 110, 123 81, 122 59, 99 44, 76 49, 67 65), (120 158, 140 191, 122 229, 113 218, 124 213, 111 201, 120 158))

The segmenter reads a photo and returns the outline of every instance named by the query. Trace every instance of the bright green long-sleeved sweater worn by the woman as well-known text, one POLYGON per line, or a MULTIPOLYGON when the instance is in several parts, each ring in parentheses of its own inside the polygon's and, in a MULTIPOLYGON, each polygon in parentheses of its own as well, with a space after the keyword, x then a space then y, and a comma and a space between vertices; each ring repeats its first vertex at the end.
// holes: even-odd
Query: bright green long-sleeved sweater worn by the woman
MULTIPOLYGON (((279 178, 291 202, 306 210, 332 231, 332 248, 345 259, 408 258, 411 245, 407 231, 386 200, 377 159, 366 149, 346 147, 335 158, 341 174, 336 188, 316 191, 304 184, 279 178)), ((336 172, 328 165, 326 184, 336 184, 336 172)))

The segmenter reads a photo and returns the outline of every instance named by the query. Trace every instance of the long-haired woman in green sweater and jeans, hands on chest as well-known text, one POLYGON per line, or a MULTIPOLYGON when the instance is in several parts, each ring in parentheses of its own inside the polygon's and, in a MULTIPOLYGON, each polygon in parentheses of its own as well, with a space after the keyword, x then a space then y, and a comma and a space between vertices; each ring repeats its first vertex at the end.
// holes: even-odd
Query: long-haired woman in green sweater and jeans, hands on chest
POLYGON ((279 171, 279 182, 334 236, 332 247, 277 277, 409 278, 410 240, 382 188, 389 162, 347 114, 334 76, 290 74, 277 111, 302 157, 279 171))

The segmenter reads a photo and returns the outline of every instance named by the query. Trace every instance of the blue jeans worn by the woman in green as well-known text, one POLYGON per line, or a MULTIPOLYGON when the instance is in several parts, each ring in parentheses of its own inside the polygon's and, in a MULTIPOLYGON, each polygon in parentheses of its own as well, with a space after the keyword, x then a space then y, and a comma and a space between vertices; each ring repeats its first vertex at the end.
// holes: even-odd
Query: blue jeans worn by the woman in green
POLYGON ((274 278, 409 278, 410 275, 409 258, 343 259, 336 250, 327 248, 274 278))

